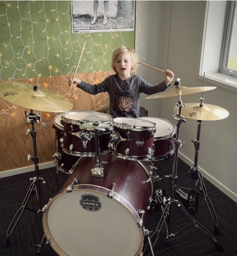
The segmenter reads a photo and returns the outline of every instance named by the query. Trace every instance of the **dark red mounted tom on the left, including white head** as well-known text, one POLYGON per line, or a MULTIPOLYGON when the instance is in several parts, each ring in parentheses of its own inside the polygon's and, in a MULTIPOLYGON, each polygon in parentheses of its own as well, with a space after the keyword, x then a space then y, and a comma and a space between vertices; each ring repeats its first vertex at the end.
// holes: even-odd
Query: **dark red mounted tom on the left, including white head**
POLYGON ((64 124, 63 151, 76 156, 95 156, 95 127, 99 123, 100 154, 108 153, 112 116, 96 111, 69 111, 62 115, 64 124))

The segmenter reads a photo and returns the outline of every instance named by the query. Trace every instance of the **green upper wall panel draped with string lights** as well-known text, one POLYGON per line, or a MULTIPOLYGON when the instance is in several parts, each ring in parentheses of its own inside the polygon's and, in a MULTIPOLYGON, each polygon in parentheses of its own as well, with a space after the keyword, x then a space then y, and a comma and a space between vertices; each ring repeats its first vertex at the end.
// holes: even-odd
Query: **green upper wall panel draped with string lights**
POLYGON ((132 32, 72 33, 71 1, 0 1, 0 80, 111 70, 112 52, 134 48, 132 32))

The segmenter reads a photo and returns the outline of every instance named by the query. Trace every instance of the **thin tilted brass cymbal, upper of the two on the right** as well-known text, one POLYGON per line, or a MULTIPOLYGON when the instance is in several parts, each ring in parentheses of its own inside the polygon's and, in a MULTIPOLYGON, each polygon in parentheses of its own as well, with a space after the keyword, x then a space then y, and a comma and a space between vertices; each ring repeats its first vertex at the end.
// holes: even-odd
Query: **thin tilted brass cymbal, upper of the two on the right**
POLYGON ((175 86, 171 90, 158 92, 145 97, 144 99, 160 99, 174 96, 182 96, 186 94, 192 94, 202 91, 210 91, 216 89, 216 86, 201 86, 201 87, 185 87, 185 86, 175 86))

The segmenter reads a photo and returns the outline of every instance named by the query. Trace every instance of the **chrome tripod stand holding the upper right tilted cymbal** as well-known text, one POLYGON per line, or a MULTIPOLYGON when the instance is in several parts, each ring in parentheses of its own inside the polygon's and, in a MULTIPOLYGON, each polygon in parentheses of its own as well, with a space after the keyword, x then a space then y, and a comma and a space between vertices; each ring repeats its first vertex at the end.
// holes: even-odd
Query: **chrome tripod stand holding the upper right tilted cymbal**
MULTIPOLYGON (((201 229, 206 235, 208 235, 209 238, 211 238, 211 240, 214 242, 214 244, 216 246, 216 250, 223 251, 223 248, 219 245, 216 238, 210 233, 210 231, 207 230, 203 225, 201 225, 201 223, 197 222, 191 216, 191 214, 188 212, 188 210, 185 209, 182 202, 175 199, 176 198, 175 192, 176 192, 176 188, 177 188, 177 178, 178 178, 178 176, 177 176, 178 148, 182 147, 185 143, 185 142, 181 142, 181 140, 179 139, 179 129, 180 129, 181 123, 183 123, 183 122, 187 123, 185 118, 181 115, 182 106, 184 106, 184 104, 182 103, 181 96, 179 96, 179 101, 176 102, 176 104, 175 104, 176 111, 173 115, 173 117, 176 121, 176 136, 174 138, 173 173, 166 176, 170 179, 170 181, 172 183, 171 196, 167 199, 164 196, 163 213, 162 213, 161 219, 159 220, 159 222, 157 224, 157 228, 156 228, 155 232, 151 236, 151 238, 152 238, 155 234, 157 234, 157 238, 156 238, 155 242, 153 243, 153 246, 155 246, 155 243, 159 238, 160 231, 164 224, 165 224, 165 227, 167 230, 166 238, 174 237, 175 235, 180 233, 183 229, 185 229, 186 227, 191 225, 191 223, 186 225, 185 227, 180 229, 176 234, 172 233, 174 205, 177 205, 187 215, 187 217, 189 217, 192 220, 192 222, 196 228, 201 229), (168 225, 166 224, 166 219, 168 219, 168 225)), ((159 195, 157 193, 157 198, 158 197, 159 197, 159 195)))

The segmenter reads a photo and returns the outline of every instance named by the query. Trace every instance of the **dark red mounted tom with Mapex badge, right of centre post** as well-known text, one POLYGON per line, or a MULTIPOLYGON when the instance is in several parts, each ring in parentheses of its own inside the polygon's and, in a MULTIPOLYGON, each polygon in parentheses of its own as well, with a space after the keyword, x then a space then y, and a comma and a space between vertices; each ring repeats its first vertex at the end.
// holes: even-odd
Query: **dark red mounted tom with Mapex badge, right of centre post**
POLYGON ((153 155, 155 123, 138 118, 115 118, 109 150, 128 160, 149 160, 153 155))

